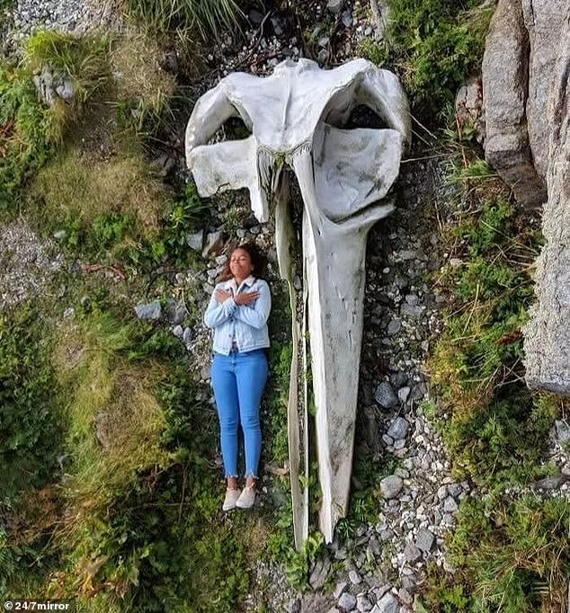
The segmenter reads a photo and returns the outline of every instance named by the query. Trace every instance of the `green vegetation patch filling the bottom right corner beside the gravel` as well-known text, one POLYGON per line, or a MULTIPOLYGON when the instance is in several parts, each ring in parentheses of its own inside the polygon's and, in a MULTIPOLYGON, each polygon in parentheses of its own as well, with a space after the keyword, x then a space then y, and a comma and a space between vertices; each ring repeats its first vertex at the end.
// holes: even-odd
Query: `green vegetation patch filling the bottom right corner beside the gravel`
POLYGON ((541 502, 467 501, 450 539, 460 571, 450 585, 432 568, 426 609, 434 613, 531 613, 564 610, 570 572, 570 506, 541 502))

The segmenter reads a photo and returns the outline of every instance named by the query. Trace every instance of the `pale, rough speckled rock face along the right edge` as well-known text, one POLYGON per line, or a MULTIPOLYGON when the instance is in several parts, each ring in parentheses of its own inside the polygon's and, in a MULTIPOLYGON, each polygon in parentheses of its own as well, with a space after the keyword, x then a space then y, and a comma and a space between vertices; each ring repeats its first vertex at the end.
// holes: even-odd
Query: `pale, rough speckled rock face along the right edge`
POLYGON ((530 387, 570 395, 570 11, 562 32, 548 99, 547 244, 537 262, 539 299, 525 329, 525 361, 530 387))

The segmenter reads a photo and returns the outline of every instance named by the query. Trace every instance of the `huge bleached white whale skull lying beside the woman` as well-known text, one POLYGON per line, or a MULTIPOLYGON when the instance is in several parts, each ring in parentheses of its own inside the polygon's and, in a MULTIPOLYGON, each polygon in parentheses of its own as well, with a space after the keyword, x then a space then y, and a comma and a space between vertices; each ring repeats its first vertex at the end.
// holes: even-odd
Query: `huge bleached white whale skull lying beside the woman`
MULTIPOLYGON (((260 221, 269 218, 273 205, 278 207, 280 270, 289 287, 291 239, 280 187, 284 164, 297 176, 305 205, 303 275, 323 491, 320 528, 327 542, 333 539, 336 521, 346 514, 350 493, 366 237, 392 210, 389 203, 378 201, 396 180, 409 137, 408 105, 396 76, 364 59, 333 70, 322 70, 307 59, 286 60, 265 78, 229 75, 196 103, 186 130, 187 161, 202 196, 247 188, 260 221), (375 111, 387 128, 345 129, 357 105, 375 111), (252 136, 209 145, 209 138, 230 117, 240 117, 252 136)), ((291 305, 294 336, 306 342, 295 321, 297 298, 292 290, 291 305)), ((298 367, 296 355, 291 381, 298 367)), ((289 397, 289 420, 295 422, 291 405, 297 402, 298 389, 291 387, 295 397, 289 397)), ((291 458, 291 493, 300 546, 307 537, 308 511, 307 493, 295 483, 300 461, 290 438, 296 444, 302 440, 296 423, 289 422, 289 453, 296 456, 291 458)))

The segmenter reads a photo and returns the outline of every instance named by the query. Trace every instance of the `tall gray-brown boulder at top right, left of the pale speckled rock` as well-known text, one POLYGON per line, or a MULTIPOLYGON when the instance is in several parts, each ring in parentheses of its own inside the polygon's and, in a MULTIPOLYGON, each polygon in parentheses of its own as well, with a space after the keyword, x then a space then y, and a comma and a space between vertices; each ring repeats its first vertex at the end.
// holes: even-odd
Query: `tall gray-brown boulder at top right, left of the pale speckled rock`
MULTIPOLYGON (((529 32, 521 0, 499 0, 483 57, 485 158, 512 187, 515 198, 531 208, 546 200, 546 190, 530 151, 526 117, 529 61, 529 32)), ((535 104, 542 89, 542 83, 533 86, 535 104)))

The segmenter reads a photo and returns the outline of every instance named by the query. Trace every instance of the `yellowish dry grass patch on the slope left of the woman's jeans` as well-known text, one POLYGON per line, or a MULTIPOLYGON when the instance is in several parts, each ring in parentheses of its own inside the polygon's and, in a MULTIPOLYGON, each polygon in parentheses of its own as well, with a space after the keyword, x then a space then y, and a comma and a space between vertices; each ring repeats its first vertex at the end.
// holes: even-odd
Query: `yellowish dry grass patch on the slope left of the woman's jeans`
POLYGON ((132 333, 129 325, 97 317, 63 330, 54 353, 58 378, 73 390, 65 407, 72 525, 83 511, 103 508, 136 473, 172 459, 161 444, 165 416, 154 393, 165 367, 129 362, 124 351, 132 333))

